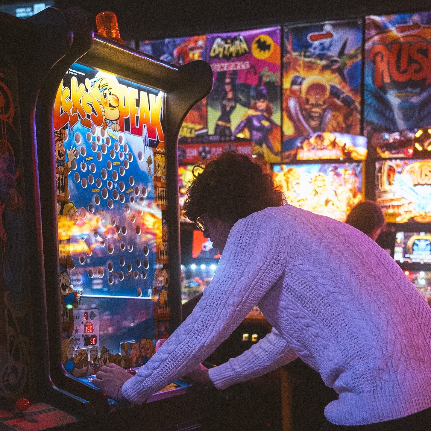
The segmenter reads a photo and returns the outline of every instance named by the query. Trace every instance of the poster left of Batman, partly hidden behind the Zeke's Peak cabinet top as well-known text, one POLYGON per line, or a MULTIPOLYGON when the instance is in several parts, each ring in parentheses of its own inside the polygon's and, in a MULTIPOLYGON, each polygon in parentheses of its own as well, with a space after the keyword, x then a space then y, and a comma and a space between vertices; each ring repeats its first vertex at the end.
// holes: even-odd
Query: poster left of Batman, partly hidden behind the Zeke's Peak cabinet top
MULTIPOLYGON (((206 60, 206 36, 175 37, 156 41, 139 41, 138 49, 161 60, 181 66, 194 60, 206 60)), ((206 99, 200 100, 187 114, 180 138, 206 135, 206 99)))

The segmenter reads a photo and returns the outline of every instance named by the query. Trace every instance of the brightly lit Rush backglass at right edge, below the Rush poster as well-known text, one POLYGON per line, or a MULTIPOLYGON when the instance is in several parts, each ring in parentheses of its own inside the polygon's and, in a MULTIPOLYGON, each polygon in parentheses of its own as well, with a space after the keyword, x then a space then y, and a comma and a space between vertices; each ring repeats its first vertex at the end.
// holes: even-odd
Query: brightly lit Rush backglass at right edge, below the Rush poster
POLYGON ((431 222, 431 159, 376 162, 376 202, 387 222, 431 222))

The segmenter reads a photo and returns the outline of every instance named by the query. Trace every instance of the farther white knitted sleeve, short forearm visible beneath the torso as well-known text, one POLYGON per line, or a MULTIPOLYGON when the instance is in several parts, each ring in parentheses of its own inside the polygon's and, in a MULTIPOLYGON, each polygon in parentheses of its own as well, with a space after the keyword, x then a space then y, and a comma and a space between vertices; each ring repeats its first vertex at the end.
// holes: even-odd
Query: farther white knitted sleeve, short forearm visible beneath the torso
POLYGON ((297 357, 284 338, 272 328, 272 332, 242 355, 209 369, 209 378, 217 389, 225 389, 231 384, 264 375, 297 357))

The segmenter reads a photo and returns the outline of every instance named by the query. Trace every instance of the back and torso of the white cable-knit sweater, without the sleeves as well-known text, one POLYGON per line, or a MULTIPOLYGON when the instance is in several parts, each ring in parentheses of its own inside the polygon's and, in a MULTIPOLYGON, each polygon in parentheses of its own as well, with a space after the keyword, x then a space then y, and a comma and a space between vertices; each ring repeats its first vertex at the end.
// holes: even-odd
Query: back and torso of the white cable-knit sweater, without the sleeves
MULTIPOLYGON (((277 230, 285 268, 258 306, 340 394, 326 417, 360 425, 429 407, 431 309, 394 260, 351 226, 290 205, 238 222, 248 223, 267 231, 261 238, 277 230)), ((234 241, 244 238, 229 237, 225 253, 234 241)))

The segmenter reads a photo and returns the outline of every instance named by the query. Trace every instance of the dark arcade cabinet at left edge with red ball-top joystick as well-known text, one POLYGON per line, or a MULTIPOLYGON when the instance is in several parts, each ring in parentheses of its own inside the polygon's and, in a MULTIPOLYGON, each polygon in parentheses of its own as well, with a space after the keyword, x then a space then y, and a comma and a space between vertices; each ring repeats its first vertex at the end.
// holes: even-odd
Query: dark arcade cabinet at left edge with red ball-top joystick
POLYGON ((1 427, 38 430, 72 424, 91 412, 88 402, 60 390, 47 372, 44 262, 34 166, 39 89, 70 49, 72 36, 65 16, 52 8, 27 20, 0 12, 0 27, 1 427))

